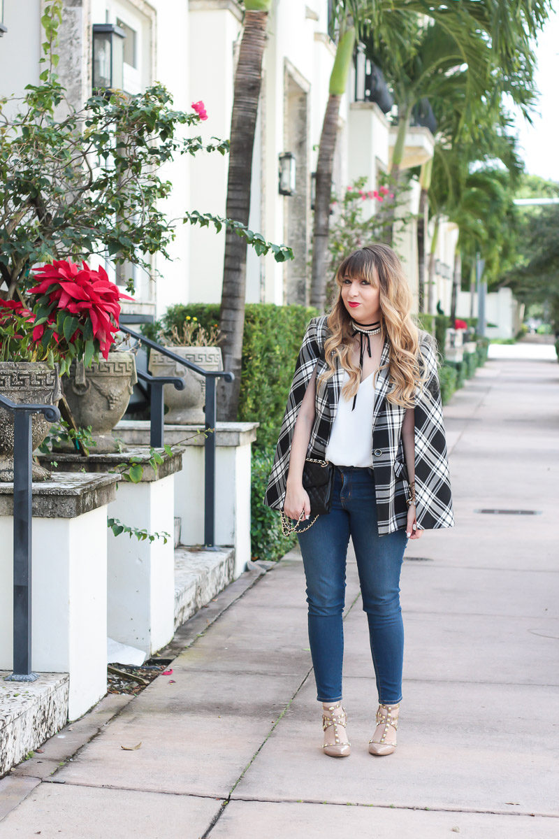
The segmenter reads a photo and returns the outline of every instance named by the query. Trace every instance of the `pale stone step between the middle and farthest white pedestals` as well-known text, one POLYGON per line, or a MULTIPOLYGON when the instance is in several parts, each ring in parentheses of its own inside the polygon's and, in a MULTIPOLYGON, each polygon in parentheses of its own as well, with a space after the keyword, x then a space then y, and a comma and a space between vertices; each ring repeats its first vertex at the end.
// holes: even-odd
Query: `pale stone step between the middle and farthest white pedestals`
POLYGON ((174 551, 174 628, 209 603, 233 579, 234 548, 179 545, 174 551))

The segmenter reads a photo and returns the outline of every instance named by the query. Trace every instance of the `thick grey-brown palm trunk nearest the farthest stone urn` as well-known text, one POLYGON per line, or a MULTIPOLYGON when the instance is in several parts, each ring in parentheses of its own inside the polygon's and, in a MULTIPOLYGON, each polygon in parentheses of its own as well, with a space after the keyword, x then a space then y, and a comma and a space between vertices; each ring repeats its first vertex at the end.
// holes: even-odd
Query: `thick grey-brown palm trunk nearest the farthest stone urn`
MULTIPOLYGON (((231 113, 229 177, 225 216, 248 224, 251 209, 252 151, 261 88, 262 56, 266 45, 268 2, 246 2, 244 29, 235 74, 231 113), (256 11, 250 8, 255 7, 256 11), (267 8, 262 8, 267 7, 267 8)), ((235 421, 241 389, 241 353, 245 328, 246 242, 229 229, 225 233, 220 331, 225 370, 235 381, 220 387, 220 420, 235 421)))

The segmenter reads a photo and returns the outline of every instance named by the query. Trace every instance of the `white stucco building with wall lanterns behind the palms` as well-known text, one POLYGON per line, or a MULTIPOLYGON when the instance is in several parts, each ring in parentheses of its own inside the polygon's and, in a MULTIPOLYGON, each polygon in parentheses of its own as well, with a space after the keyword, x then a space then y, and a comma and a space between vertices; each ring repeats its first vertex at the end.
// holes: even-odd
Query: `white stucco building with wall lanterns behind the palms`
MULTIPOLYGON (((4 0, 5 33, 0 38, 0 95, 21 95, 39 80, 42 0, 4 0)), ((249 227, 272 242, 286 243, 295 253, 288 263, 272 256, 247 258, 246 300, 276 304, 308 301, 309 246, 312 233, 311 185, 318 142, 328 100, 334 43, 328 34, 328 0, 276 0, 268 21, 261 103, 256 125, 249 227), (293 195, 278 192, 279 155, 291 152, 297 164, 293 195)), ((60 29, 60 76, 75 107, 91 94, 92 28, 115 24, 125 34, 122 87, 131 93, 160 81, 171 91, 174 106, 189 110, 202 100, 207 122, 195 133, 227 138, 233 102, 236 52, 242 12, 235 0, 64 0, 60 29)), ((366 177, 366 189, 378 185, 389 169, 395 129, 374 102, 355 101, 355 71, 339 110, 339 140, 334 188, 366 177)), ((432 156, 427 128, 411 128, 403 167, 432 156)), ((173 161, 164 177, 172 180, 165 201, 169 218, 185 209, 225 215, 227 157, 199 154, 173 161)), ((417 212, 419 187, 412 182, 408 210, 417 212)), ((400 251, 417 309, 417 222, 402 232, 400 251)), ((436 289, 432 310, 441 300, 449 310, 456 230, 443 224, 437 241, 436 289)), ((155 257, 157 282, 136 269, 137 293, 129 310, 161 315, 173 303, 219 302, 225 235, 180 224, 168 248, 170 261, 155 257)), ((427 253, 428 253, 427 241, 427 253)), ((107 266, 111 269, 111 266, 107 266)), ((126 272, 129 275, 130 269, 126 272)), ((114 274, 114 272, 113 272, 114 274)))

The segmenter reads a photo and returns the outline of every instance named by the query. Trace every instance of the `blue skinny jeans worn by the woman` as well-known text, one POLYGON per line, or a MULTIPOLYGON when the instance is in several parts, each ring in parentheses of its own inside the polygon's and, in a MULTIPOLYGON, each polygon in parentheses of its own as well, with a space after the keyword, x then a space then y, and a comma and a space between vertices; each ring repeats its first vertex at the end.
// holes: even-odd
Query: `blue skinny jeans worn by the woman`
POLYGON ((345 564, 353 540, 379 702, 401 701, 404 625, 400 571, 406 530, 379 536, 372 469, 336 466, 329 513, 298 534, 307 580, 308 640, 317 699, 342 698, 345 564))

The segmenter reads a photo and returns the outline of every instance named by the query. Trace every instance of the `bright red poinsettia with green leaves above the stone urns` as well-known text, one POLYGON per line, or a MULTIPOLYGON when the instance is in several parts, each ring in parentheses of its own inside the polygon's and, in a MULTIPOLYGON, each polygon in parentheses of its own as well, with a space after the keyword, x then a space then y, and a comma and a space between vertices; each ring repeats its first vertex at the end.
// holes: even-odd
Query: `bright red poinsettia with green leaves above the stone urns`
POLYGON ((38 284, 28 289, 28 308, 0 300, 0 358, 90 367, 100 353, 106 358, 115 342, 120 300, 132 300, 111 283, 101 266, 95 270, 58 259, 35 268, 38 284))

